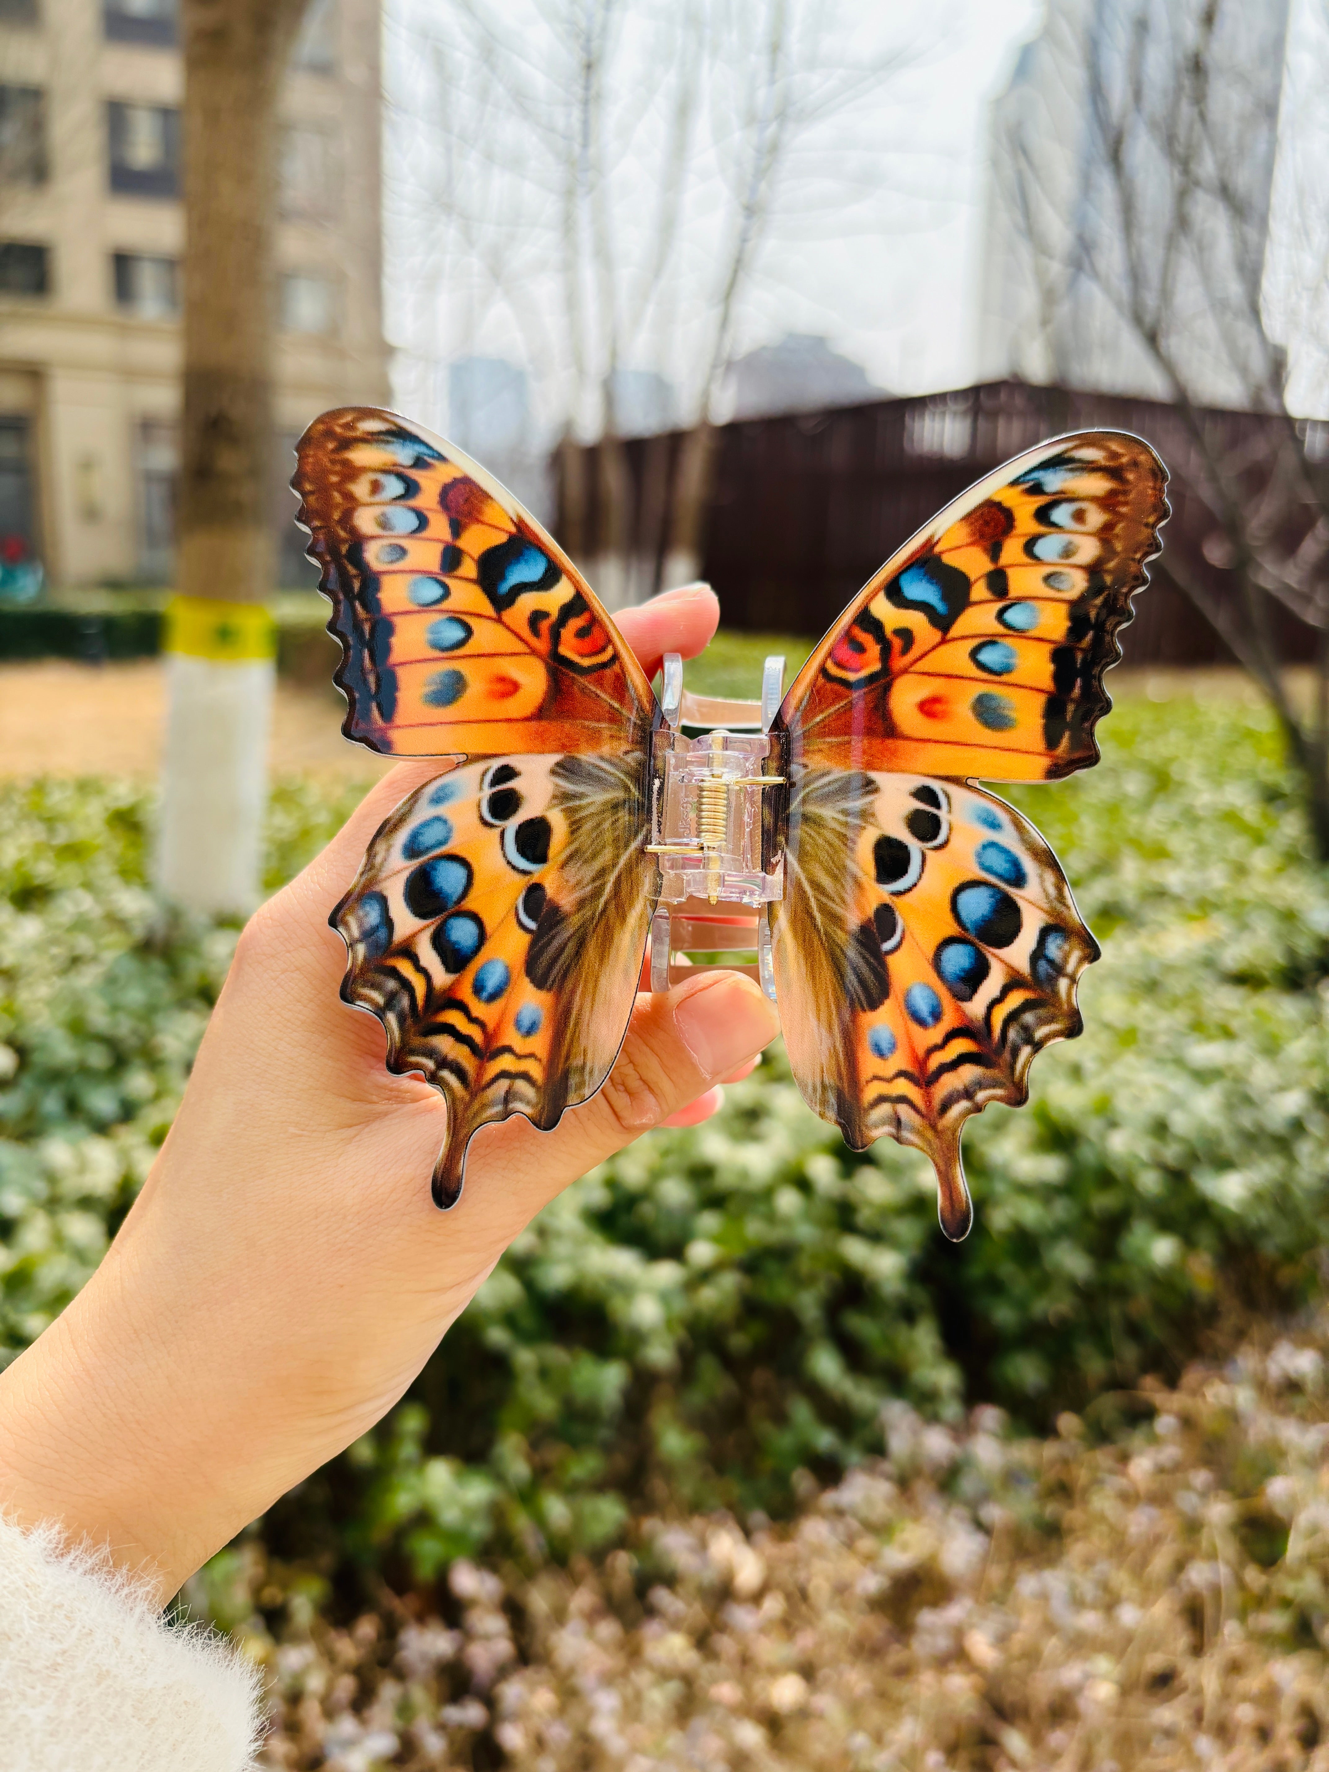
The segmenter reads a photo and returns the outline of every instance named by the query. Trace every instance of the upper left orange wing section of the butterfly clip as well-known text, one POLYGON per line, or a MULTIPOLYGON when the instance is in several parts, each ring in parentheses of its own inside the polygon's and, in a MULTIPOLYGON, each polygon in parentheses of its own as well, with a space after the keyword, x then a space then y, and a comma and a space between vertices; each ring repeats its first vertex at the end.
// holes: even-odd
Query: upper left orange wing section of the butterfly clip
POLYGON ((315 418, 294 489, 346 735, 402 757, 613 751, 652 695, 587 581, 477 462, 379 408, 315 418))

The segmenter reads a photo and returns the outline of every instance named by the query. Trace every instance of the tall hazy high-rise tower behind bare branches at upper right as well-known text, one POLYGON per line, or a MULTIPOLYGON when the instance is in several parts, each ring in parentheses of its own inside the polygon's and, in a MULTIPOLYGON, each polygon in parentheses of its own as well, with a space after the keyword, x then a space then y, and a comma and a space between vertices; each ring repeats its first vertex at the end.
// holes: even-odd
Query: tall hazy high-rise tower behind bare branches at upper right
POLYGON ((980 381, 1168 399, 1134 280, 1191 397, 1249 404, 1286 32, 1288 0, 1047 0, 992 105, 980 381))

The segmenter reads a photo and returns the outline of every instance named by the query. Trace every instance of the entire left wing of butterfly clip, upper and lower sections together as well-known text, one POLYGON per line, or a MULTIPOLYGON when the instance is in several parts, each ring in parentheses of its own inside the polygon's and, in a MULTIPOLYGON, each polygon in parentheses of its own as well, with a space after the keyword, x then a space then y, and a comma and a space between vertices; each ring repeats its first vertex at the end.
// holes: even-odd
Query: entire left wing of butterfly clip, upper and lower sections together
POLYGON ((294 487, 342 641, 346 735, 461 762, 386 819, 331 914, 342 998, 383 1022, 388 1069, 447 1097, 434 1200, 450 1207, 478 1127, 555 1127, 622 1045, 657 893, 656 700, 558 544, 441 438, 324 413, 294 487))

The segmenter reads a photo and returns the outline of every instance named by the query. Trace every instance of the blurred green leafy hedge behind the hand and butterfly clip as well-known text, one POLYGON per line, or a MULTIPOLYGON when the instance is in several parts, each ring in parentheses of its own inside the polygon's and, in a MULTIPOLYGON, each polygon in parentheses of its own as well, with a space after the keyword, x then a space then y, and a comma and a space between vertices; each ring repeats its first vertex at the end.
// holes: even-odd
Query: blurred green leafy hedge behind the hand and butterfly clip
MULTIPOLYGON (((976 1228, 856 1157, 773 1056, 517 1240, 411 1396, 269 1517, 282 1554, 431 1579, 486 1540, 604 1543, 629 1503, 785 1508, 907 1396, 1030 1425, 1175 1373, 1224 1306, 1285 1308, 1329 1240, 1329 879, 1260 709, 1131 700, 1102 767, 1012 794, 1104 943, 1084 1038, 966 1131, 976 1228)), ((0 789, 0 1341, 76 1290, 161 1141, 234 932, 163 927, 151 806, 0 789)), ((346 812, 280 787, 271 879, 346 812)))

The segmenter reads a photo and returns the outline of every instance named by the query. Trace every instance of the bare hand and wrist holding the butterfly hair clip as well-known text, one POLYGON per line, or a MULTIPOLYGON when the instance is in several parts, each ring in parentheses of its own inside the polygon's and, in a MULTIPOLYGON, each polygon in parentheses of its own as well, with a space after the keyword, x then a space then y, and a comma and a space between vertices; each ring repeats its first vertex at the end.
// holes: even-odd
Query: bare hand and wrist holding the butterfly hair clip
MULTIPOLYGON (((709 590, 618 626, 647 675, 716 629, 709 590)), ((386 813, 438 766, 400 764, 246 925, 181 1111, 105 1262, 0 1375, 0 1506, 156 1582, 163 1602, 406 1391, 519 1230, 650 1127, 693 1123, 778 1031, 748 980, 640 996, 604 1088, 553 1132, 482 1129, 441 1214, 447 1108, 383 1067, 338 999, 328 913, 386 813)))

